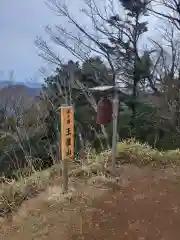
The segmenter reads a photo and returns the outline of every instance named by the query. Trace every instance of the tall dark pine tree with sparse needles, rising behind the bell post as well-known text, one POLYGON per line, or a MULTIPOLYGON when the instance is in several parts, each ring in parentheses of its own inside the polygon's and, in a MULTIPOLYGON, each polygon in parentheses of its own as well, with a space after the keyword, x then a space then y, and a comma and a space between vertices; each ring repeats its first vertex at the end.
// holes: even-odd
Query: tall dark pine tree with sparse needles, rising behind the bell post
POLYGON ((148 31, 148 22, 141 21, 147 15, 146 0, 119 0, 125 12, 125 18, 119 15, 111 16, 109 24, 118 29, 117 34, 109 38, 110 46, 116 56, 116 64, 123 72, 127 85, 132 88, 132 118, 131 127, 134 128, 136 118, 137 93, 140 83, 149 77, 151 66, 150 54, 139 52, 139 41, 145 32, 148 31))

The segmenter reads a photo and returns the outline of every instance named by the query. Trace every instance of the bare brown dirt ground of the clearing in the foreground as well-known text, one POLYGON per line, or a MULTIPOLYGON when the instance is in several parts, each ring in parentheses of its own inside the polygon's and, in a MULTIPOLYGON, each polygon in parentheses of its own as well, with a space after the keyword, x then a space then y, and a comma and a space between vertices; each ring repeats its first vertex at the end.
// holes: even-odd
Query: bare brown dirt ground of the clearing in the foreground
POLYGON ((78 193, 72 184, 64 199, 56 186, 1 221, 0 240, 178 240, 179 173, 127 166, 116 190, 98 178, 75 181, 78 193))

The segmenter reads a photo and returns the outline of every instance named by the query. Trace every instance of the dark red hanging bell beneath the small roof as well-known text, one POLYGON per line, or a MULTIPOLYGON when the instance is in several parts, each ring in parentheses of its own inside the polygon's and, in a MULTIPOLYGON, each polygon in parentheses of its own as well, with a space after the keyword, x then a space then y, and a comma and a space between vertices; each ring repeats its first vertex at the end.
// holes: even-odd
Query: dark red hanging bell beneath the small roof
POLYGON ((112 121, 113 118, 113 104, 108 98, 102 98, 97 106, 97 124, 106 125, 112 121))

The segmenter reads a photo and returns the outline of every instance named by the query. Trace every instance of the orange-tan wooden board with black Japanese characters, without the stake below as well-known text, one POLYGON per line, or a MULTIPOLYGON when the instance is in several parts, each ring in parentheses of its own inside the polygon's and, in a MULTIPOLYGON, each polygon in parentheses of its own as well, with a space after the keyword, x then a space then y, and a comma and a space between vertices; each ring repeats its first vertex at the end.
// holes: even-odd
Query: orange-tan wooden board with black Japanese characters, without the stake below
POLYGON ((72 106, 61 107, 60 150, 62 160, 74 158, 74 110, 72 106))

